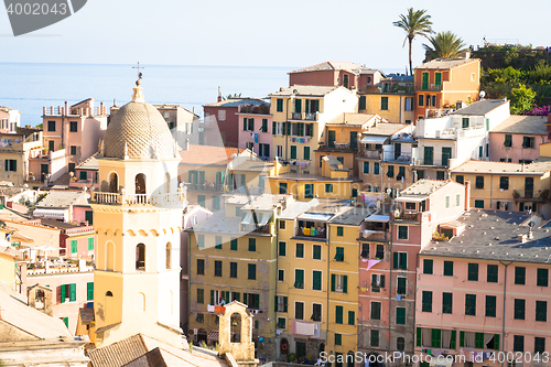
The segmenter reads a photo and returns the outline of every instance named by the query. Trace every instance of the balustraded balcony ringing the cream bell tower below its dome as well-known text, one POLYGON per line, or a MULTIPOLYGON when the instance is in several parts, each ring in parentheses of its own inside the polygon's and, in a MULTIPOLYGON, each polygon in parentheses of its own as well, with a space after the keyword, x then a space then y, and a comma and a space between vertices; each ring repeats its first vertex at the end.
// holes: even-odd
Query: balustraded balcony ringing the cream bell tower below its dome
POLYGON ((91 193, 91 202, 107 205, 156 205, 156 206, 181 206, 185 203, 184 192, 177 194, 117 194, 117 193, 91 193))

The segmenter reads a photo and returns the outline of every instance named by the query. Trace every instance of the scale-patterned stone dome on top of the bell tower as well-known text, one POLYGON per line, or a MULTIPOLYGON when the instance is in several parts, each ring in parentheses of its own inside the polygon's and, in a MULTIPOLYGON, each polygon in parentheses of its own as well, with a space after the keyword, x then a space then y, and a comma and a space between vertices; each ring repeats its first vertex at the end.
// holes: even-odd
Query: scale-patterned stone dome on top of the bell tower
POLYGON ((125 159, 174 158, 174 139, 159 110, 133 88, 132 101, 111 118, 104 139, 104 156, 125 159))

